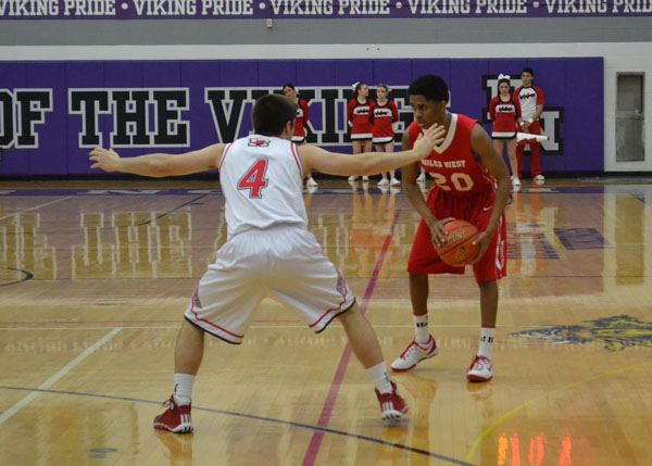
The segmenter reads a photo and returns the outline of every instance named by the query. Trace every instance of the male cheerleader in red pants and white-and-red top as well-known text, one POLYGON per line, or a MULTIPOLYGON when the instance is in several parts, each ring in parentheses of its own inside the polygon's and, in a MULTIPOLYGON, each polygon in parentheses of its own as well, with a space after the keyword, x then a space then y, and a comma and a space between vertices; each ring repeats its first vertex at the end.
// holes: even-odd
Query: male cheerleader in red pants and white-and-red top
MULTIPOLYGON (((541 134, 541 124, 539 117, 543 113, 543 105, 546 99, 543 99, 543 91, 534 85, 535 72, 530 67, 523 68, 521 74, 523 86, 514 91, 514 101, 521 103, 522 111, 522 123, 521 129, 523 133, 531 133, 532 135, 541 134)), ((541 174, 541 156, 540 146, 537 141, 529 141, 530 152, 532 154, 531 160, 531 173, 532 178, 537 184, 546 182, 546 177, 541 174)), ((523 178, 523 152, 525 151, 526 144, 519 144, 516 147, 516 160, 518 161, 518 178, 523 178)))

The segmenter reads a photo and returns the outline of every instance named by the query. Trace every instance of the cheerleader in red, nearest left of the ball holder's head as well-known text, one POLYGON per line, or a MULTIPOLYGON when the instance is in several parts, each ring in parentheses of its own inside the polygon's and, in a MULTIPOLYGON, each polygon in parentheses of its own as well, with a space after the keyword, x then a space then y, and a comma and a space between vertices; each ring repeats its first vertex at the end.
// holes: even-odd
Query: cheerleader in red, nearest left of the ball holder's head
MULTIPOLYGON (((393 152, 394 124, 399 122, 399 109, 393 100, 389 99, 389 87, 385 84, 379 84, 376 88, 376 105, 372 112, 372 123, 374 128, 372 137, 376 152, 393 152)), ((387 179, 387 173, 383 172, 383 179, 378 186, 396 186, 400 185, 394 177, 394 171, 389 172, 391 180, 387 179)))

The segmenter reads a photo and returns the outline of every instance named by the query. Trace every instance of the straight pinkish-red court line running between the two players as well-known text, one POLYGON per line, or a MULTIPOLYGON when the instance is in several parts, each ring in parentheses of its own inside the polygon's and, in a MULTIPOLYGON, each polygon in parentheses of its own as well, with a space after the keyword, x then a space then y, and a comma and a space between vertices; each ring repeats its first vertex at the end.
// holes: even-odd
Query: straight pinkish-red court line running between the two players
MULTIPOLYGON (((383 244, 383 249, 380 250, 380 254, 378 255, 378 260, 376 261, 376 265, 374 267, 374 272, 372 273, 372 277, 367 285, 367 289, 364 293, 364 298, 362 300, 362 305, 360 306, 360 312, 364 316, 366 313, 368 302, 372 299, 372 294, 374 293, 374 288, 376 288, 376 280, 380 274, 380 268, 383 267, 383 262, 385 261, 385 256, 387 255, 387 251, 389 250, 389 245, 391 244, 391 240, 394 235, 394 230, 397 224, 399 222, 399 216, 401 214, 401 210, 397 209, 394 212, 394 217, 392 219, 391 226, 389 228, 389 232, 385 238, 385 243, 383 244)), ((333 378, 333 382, 330 382, 330 389, 328 390, 328 395, 326 396, 326 401, 324 402, 324 406, 322 407, 322 413, 319 415, 319 420, 317 421, 317 426, 327 427, 330 421, 330 416, 333 414, 333 410, 335 408, 335 403, 337 401, 337 396, 339 394, 339 389, 341 387, 342 380, 344 378, 344 374, 347 371, 347 367, 349 366, 349 361, 351 361, 351 345, 347 343, 342 355, 340 357, 339 365, 337 366, 337 370, 335 373, 335 377, 333 378)), ((371 393, 371 390, 369 390, 371 393)), ((310 439, 310 443, 308 445, 308 450, 305 455, 303 456, 303 466, 311 466, 315 464, 317 458, 317 454, 319 453, 319 449, 322 446, 322 441, 324 440, 324 432, 317 431, 314 432, 312 438, 310 439)))

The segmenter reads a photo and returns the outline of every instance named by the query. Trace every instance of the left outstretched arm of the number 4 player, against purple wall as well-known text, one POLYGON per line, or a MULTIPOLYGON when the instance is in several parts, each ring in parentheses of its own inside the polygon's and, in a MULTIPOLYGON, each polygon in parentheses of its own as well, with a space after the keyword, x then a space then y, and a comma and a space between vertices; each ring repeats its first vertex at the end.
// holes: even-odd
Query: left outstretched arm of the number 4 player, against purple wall
POLYGON ((134 158, 121 158, 114 150, 97 148, 88 159, 95 162, 90 165, 91 168, 160 178, 216 168, 224 147, 225 144, 213 144, 183 154, 152 153, 134 158))

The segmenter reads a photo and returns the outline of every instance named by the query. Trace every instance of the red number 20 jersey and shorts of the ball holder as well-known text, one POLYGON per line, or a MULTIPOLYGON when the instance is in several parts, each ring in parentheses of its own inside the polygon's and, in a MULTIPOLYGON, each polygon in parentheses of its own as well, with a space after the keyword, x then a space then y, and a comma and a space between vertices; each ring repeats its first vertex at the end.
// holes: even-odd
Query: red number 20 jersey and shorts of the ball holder
MULTIPOLYGON (((451 114, 451 125, 441 146, 421 161, 422 167, 432 174, 435 185, 426 203, 436 218, 459 218, 471 222, 480 231, 489 224, 496 180, 476 159, 471 148, 471 133, 477 119, 451 114)), ((415 123, 408 129, 410 143, 422 128, 415 123)), ((498 280, 507 273, 506 223, 504 214, 496 228, 489 249, 480 262, 473 266, 477 282, 498 280)), ((464 274, 464 267, 446 264, 435 250, 430 228, 422 218, 408 261, 411 274, 464 274)))

